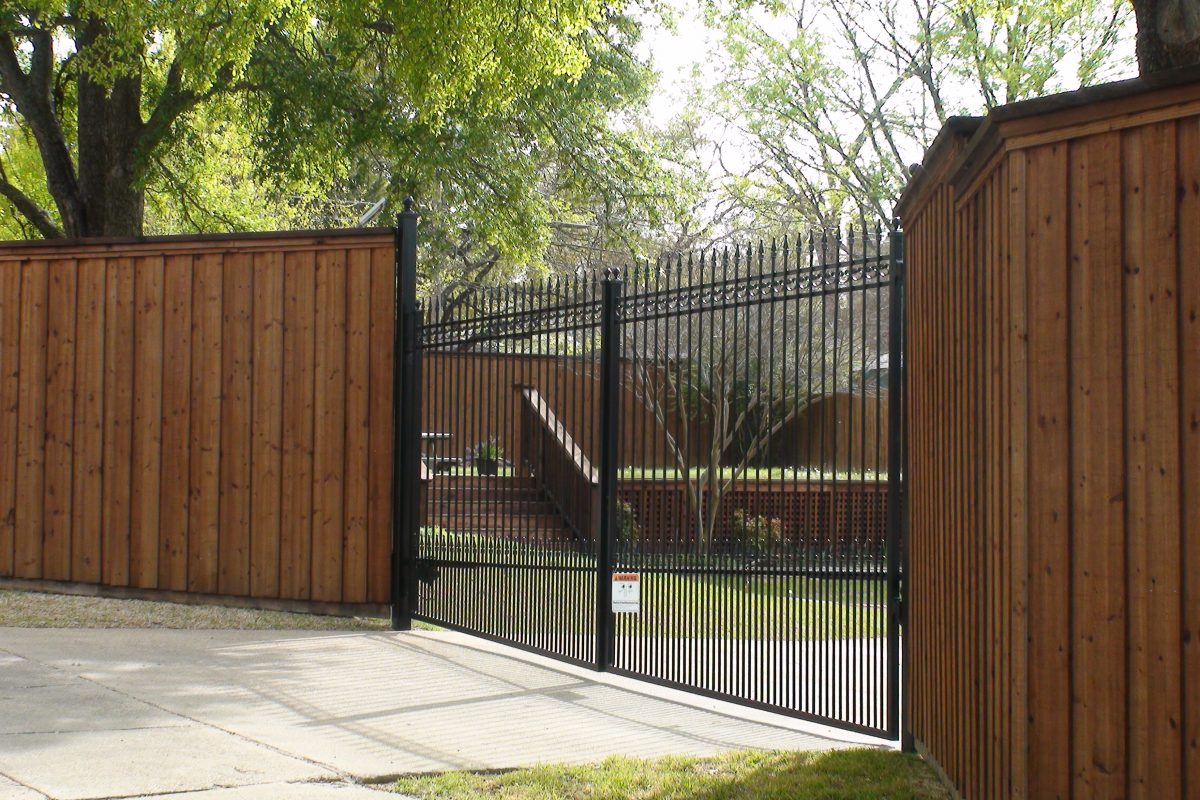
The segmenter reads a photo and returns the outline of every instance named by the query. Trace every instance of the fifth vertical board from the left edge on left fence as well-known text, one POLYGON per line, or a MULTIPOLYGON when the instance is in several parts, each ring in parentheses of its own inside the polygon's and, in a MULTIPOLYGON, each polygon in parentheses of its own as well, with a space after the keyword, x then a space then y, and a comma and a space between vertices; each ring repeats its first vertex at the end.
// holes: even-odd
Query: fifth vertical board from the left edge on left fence
POLYGON ((130 476, 133 459, 133 263, 109 259, 104 277, 104 456, 101 560, 116 585, 128 583, 130 476))

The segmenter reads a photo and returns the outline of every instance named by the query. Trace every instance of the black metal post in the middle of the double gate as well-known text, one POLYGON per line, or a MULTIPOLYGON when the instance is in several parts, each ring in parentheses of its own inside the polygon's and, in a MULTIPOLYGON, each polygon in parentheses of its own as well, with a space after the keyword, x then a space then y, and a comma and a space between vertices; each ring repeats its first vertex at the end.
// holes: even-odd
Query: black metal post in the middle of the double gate
POLYGON ((617 306, 622 282, 608 272, 601 282, 600 309, 600 530, 596 548, 596 669, 612 664, 612 542, 617 519, 617 438, 620 435, 620 323, 617 306))

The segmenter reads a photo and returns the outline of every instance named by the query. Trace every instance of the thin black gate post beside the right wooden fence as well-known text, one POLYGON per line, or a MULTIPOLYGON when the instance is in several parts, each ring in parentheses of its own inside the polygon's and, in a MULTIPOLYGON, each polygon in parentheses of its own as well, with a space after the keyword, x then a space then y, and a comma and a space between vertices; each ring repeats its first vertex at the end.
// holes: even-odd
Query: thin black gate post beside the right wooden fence
MULTIPOLYGON (((888 720, 893 736, 900 732, 900 627, 907 616, 905 597, 905 254, 900 221, 892 222, 888 288, 888 720)), ((907 631, 906 631, 907 633, 907 631)), ((907 638, 907 637, 906 637, 907 638)))

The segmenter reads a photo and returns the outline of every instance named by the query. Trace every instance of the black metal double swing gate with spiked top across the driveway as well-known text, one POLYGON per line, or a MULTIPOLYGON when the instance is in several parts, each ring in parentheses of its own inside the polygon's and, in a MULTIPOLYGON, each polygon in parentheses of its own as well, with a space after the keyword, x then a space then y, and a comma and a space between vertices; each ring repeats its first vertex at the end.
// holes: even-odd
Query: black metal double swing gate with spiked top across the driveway
POLYGON ((894 738, 901 235, 416 302, 401 221, 398 626, 894 738))

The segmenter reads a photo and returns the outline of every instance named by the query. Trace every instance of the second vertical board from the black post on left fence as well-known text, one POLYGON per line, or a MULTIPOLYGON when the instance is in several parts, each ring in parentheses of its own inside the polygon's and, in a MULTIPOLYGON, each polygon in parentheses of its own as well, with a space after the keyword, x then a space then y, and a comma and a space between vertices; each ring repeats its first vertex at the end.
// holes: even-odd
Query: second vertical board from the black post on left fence
POLYGON ((348 253, 346 275, 346 547, 342 602, 367 600, 367 477, 371 441, 371 251, 348 253))

